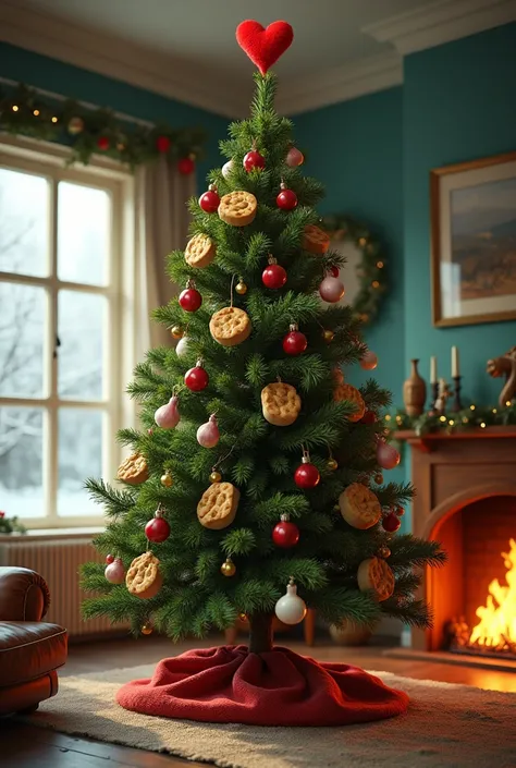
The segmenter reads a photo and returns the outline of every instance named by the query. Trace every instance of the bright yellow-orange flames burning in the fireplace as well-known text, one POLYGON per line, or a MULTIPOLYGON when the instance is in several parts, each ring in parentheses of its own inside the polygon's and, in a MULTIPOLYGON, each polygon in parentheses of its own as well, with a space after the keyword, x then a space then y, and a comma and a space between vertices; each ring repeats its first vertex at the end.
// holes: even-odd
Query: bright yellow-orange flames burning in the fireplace
POLYGON ((511 550, 502 552, 507 573, 507 586, 502 586, 497 578, 489 585, 486 606, 477 608, 479 623, 474 626, 469 637, 470 645, 488 648, 507 648, 516 646, 516 541, 509 540, 511 550))

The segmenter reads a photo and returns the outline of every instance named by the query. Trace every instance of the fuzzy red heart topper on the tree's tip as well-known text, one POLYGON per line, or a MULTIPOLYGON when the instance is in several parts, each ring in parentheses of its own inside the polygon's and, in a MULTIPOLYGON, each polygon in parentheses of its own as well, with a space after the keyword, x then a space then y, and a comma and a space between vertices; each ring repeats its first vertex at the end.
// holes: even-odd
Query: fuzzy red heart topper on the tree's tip
POLYGON ((273 22, 265 29, 254 21, 242 22, 236 27, 236 40, 261 74, 278 61, 294 39, 294 31, 286 22, 273 22))

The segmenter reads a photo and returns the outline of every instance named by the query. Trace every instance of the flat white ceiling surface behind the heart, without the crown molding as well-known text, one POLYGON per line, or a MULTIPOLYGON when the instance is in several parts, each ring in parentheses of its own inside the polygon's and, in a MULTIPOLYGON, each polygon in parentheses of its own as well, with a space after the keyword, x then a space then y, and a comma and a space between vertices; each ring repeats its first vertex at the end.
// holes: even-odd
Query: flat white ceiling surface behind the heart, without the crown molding
POLYGON ((256 19, 263 26, 284 19, 295 42, 274 70, 304 77, 391 48, 361 27, 422 4, 417 0, 27 0, 23 3, 91 29, 109 32, 229 84, 254 65, 235 40, 236 26, 256 19))

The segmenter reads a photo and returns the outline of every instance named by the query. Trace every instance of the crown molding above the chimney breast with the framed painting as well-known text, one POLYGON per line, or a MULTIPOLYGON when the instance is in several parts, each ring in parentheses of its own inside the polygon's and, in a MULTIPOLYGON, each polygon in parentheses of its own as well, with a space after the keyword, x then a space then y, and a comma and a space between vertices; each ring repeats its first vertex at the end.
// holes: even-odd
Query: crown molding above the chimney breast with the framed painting
POLYGON ((361 32, 391 42, 401 56, 516 21, 516 0, 439 0, 368 24, 361 32))

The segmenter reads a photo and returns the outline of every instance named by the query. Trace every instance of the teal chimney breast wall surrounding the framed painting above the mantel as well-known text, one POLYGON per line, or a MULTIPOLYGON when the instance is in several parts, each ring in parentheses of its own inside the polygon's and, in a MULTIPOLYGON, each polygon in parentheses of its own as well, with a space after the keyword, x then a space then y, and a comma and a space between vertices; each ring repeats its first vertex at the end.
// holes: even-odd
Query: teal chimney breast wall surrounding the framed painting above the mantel
POLYGON ((466 397, 495 403, 501 383, 484 373, 486 361, 516 344, 516 322, 432 327, 429 172, 516 149, 516 24, 414 53, 404 70, 405 357, 421 357, 428 378, 429 356, 438 355, 449 379, 456 344, 466 397))

